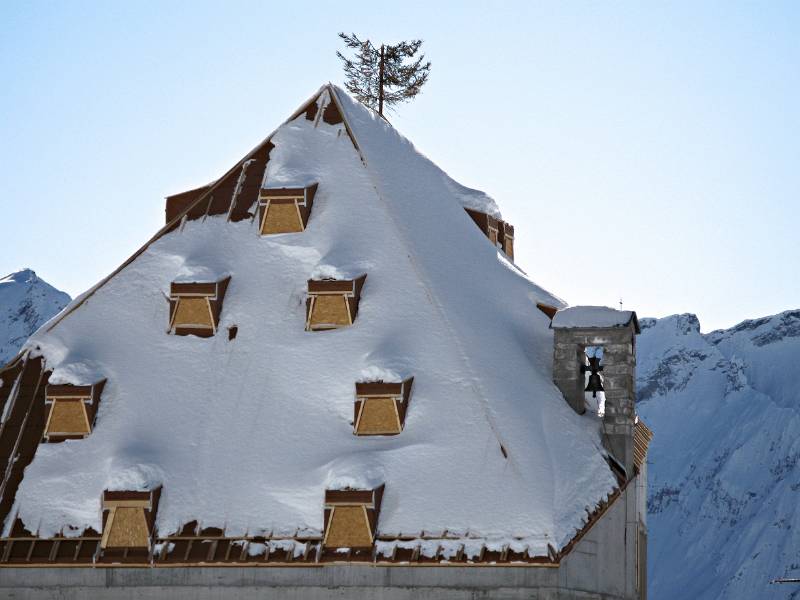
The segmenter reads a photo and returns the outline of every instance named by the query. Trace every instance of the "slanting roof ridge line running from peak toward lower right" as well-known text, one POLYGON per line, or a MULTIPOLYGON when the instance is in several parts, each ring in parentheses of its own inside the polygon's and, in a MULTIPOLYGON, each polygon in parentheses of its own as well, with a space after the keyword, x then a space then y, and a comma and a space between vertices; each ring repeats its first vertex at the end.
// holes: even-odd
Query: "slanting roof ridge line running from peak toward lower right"
MULTIPOLYGON (((444 308, 442 307, 442 303, 439 301, 438 296, 433 292, 432 286, 428 283, 427 275, 418 267, 417 262, 414 260, 413 252, 410 251, 411 244, 409 244, 408 240, 406 239, 406 236, 403 235, 402 227, 398 226, 398 221, 395 218, 393 211, 389 208, 389 202, 387 202, 386 199, 383 197, 383 194, 381 194, 381 192, 380 192, 380 190, 378 188, 378 185, 376 184, 376 177, 373 175, 372 171, 370 170, 368 161, 366 159, 366 156, 365 156, 364 152, 361 150, 361 147, 358 144, 358 140, 356 139, 355 133, 353 133, 353 130, 350 127, 350 124, 347 121, 347 114, 343 109, 342 103, 339 101, 339 97, 336 94, 335 86, 333 86, 330 83, 328 85, 329 85, 329 88, 330 88, 331 97, 336 102, 336 107, 339 109, 339 112, 342 115, 342 122, 345 125, 345 129, 350 134, 350 138, 353 140, 353 145, 356 147, 356 150, 358 151, 358 154, 361 157, 361 162, 364 164, 364 168, 367 170, 367 175, 370 178, 370 182, 372 183, 372 187, 375 190, 375 193, 377 194, 378 198, 380 198, 383 201, 383 204, 386 207, 386 212, 389 213, 389 218, 395 224, 395 231, 397 232, 401 243, 406 248, 406 254, 408 256, 409 262, 411 263, 411 267, 417 273, 420 282, 422 283, 423 287, 425 288, 426 294, 428 295, 428 297, 431 300, 431 304, 433 304, 433 306, 436 308, 437 312, 440 314, 445 326, 447 327, 447 330, 450 332, 450 336, 455 341, 456 350, 457 350, 457 353, 458 353, 459 357, 466 364, 468 371, 470 373, 474 373, 475 370, 472 368, 472 363, 469 360, 469 355, 464 350, 464 342, 461 339, 461 336, 458 335, 457 330, 451 324, 450 319, 447 317, 447 313, 445 312, 444 308)), ((386 119, 384 119, 384 121, 386 121, 386 119)), ((392 129, 395 129, 394 125, 389 123, 389 121, 386 121, 386 123, 392 129)), ((502 450, 508 451, 508 446, 507 446, 506 443, 503 442, 503 439, 502 439, 503 436, 500 434, 500 431, 498 430, 497 423, 496 423, 496 421, 494 419, 494 416, 492 415, 491 407, 489 405, 489 400, 488 400, 483 388, 481 387, 480 382, 475 377, 470 377, 469 385, 475 391, 476 395, 478 396, 478 402, 481 405, 481 409, 483 410, 484 417, 486 418, 486 421, 487 421, 487 423, 489 425, 489 429, 491 429, 492 433, 494 434, 494 437, 497 440, 497 443, 500 445, 501 451, 502 450)), ((515 467, 514 470, 517 471, 516 462, 510 457, 510 454, 507 457, 507 460, 509 461, 509 463, 513 467, 515 467)), ((517 474, 519 474, 519 473, 517 473, 517 474)))

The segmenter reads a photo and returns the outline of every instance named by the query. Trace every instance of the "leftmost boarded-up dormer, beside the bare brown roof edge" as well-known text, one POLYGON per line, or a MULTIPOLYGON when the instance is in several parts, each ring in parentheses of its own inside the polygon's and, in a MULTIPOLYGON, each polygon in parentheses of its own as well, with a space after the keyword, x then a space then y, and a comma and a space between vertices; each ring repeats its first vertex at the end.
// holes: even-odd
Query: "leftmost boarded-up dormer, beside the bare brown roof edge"
POLYGON ((48 385, 44 441, 82 439, 92 432, 105 380, 93 385, 48 385))

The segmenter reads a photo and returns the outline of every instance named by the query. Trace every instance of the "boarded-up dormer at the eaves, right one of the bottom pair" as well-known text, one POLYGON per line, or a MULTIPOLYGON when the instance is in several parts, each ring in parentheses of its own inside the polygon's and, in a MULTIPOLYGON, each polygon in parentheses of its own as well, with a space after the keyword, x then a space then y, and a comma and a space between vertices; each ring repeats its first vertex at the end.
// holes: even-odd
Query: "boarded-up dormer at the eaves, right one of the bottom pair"
POLYGON ((326 548, 371 548, 375 542, 383 488, 326 490, 326 548))

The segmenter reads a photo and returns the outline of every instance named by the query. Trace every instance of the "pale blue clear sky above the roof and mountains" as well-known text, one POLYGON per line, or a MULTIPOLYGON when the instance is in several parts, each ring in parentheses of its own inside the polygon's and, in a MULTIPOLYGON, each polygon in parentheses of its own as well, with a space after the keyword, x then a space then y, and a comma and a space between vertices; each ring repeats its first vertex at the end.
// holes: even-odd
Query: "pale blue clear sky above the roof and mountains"
POLYGON ((800 307, 800 3, 5 2, 0 275, 72 295, 326 81, 338 31, 419 37, 392 123, 489 192, 572 304, 800 307))

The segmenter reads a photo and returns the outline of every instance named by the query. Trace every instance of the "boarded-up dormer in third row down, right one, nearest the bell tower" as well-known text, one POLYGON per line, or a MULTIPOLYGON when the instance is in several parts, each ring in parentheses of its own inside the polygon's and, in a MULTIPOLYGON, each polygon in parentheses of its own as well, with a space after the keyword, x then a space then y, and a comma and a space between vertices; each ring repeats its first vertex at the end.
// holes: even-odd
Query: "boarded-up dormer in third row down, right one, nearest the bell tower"
POLYGON ((355 435, 397 435, 403 431, 411 398, 410 377, 400 383, 356 383, 355 435))

